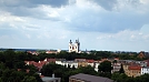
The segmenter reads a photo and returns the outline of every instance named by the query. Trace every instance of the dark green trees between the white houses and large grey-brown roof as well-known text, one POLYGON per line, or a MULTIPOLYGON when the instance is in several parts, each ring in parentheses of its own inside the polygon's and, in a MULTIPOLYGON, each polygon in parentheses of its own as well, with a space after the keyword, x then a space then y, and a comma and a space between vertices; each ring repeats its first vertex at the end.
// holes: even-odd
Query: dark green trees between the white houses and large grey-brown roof
POLYGON ((92 74, 92 75, 98 75, 98 73, 95 71, 92 66, 81 66, 78 69, 71 69, 71 68, 64 68, 62 65, 56 64, 56 63, 49 63, 44 65, 41 69, 42 75, 46 76, 52 76, 54 75, 57 78, 61 78, 62 82, 69 82, 69 76, 77 74, 77 73, 86 73, 86 74, 92 74))

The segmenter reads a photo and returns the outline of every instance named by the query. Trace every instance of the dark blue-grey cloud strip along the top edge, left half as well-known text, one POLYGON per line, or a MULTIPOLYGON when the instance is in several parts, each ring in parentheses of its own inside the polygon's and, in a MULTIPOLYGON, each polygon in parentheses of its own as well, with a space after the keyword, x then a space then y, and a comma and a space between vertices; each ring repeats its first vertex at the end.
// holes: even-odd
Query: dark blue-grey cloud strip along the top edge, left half
POLYGON ((67 6, 69 0, 1 0, 0 7, 37 7, 39 4, 48 4, 51 7, 67 6))

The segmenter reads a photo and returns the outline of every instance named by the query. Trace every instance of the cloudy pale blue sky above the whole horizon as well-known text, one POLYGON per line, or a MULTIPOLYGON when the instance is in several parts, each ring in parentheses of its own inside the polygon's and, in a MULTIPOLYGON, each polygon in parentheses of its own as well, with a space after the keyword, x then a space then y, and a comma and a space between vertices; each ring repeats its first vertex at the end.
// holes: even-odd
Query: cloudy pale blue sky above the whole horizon
POLYGON ((0 0, 0 48, 149 51, 149 0, 0 0))

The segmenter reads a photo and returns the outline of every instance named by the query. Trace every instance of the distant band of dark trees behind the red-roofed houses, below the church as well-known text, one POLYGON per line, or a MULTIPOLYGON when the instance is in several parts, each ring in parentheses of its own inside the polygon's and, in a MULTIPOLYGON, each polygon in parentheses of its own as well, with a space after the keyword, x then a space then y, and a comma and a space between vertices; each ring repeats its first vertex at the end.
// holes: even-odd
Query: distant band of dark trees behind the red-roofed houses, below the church
POLYGON ((121 53, 115 53, 111 51, 91 51, 89 54, 88 53, 69 53, 66 51, 61 51, 60 53, 40 53, 37 55, 37 61, 38 60, 43 60, 44 58, 56 58, 56 59, 66 59, 66 60, 74 60, 74 59, 93 59, 93 60, 101 60, 101 59, 115 59, 119 58, 120 60, 147 60, 147 58, 138 58, 137 52, 121 52, 121 53))

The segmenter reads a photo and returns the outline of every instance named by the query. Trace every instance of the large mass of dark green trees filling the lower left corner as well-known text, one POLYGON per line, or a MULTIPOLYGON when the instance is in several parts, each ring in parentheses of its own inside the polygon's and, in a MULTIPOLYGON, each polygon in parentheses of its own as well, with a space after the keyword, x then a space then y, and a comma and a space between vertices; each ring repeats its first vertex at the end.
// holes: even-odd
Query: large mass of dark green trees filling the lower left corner
POLYGON ((0 82, 42 82, 33 65, 26 65, 24 60, 32 55, 7 50, 0 52, 0 82))

